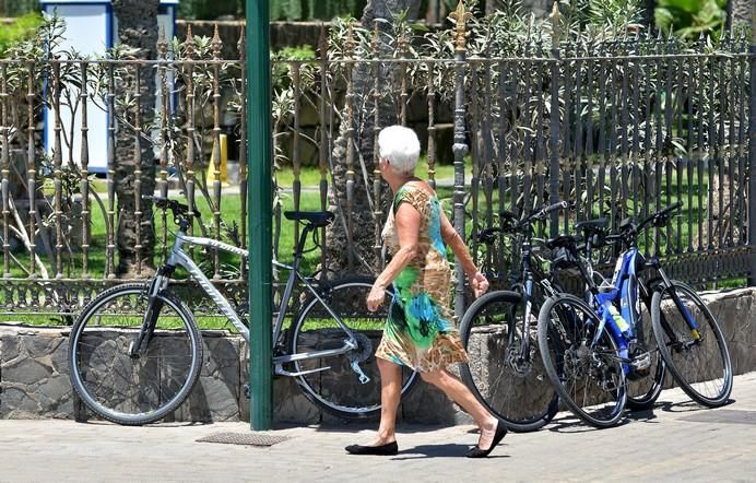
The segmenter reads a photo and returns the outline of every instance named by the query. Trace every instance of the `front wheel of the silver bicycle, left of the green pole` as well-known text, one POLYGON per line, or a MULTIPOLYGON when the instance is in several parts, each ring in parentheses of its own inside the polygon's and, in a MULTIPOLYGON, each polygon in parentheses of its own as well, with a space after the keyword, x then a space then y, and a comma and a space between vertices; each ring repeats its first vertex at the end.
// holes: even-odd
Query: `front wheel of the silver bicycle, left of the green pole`
POLYGON ((202 343, 189 310, 169 292, 155 299, 154 328, 143 329, 147 285, 108 288, 83 310, 69 341, 71 385, 99 416, 118 424, 162 420, 200 376, 202 343), (139 351, 131 347, 144 334, 139 351))

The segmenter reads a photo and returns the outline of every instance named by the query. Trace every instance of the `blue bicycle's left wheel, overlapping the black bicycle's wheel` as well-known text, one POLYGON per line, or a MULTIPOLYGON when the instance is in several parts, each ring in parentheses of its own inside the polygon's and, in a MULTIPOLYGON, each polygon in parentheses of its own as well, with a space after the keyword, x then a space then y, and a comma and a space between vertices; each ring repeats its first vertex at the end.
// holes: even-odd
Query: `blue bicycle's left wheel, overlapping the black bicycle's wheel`
POLYGON ((592 340, 592 329, 599 325, 595 311, 569 294, 546 298, 539 313, 539 349, 559 399, 586 423, 604 428, 622 417, 627 388, 622 358, 609 331, 602 332, 598 351, 583 343, 592 340), (576 308, 582 317, 575 314, 576 308), (589 386, 591 380, 596 381, 595 387, 589 386))

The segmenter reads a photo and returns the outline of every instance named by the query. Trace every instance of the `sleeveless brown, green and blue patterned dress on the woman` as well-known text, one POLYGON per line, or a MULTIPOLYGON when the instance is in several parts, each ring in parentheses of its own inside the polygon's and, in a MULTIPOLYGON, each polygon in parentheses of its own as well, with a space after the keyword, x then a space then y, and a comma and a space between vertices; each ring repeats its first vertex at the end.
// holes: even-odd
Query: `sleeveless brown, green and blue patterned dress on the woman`
POLYGON ((401 203, 410 203, 421 215, 420 251, 393 281, 394 297, 376 356, 422 373, 466 362, 449 310, 451 269, 438 198, 421 187, 400 188, 382 233, 391 254, 399 250, 393 215, 401 203))

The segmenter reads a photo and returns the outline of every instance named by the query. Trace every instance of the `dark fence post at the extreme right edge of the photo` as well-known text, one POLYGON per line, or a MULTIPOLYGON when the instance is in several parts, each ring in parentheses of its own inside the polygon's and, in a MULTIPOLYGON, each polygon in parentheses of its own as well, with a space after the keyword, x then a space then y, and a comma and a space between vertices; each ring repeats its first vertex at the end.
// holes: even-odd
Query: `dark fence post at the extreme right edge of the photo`
POLYGON ((748 111, 748 285, 756 286, 756 10, 751 12, 751 110, 748 111))

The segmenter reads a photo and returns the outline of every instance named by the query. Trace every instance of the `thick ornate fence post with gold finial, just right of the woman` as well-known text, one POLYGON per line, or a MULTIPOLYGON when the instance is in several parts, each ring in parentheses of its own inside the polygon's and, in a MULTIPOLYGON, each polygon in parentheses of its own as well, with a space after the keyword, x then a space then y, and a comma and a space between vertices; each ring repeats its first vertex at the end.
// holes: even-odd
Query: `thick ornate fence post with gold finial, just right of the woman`
MULTIPOLYGON (((457 10, 449 14, 457 22, 454 40, 454 82, 457 94, 454 97, 454 229, 464 239, 464 156, 468 154, 465 123, 464 123, 464 72, 466 69, 465 23, 472 17, 472 13, 465 11, 464 2, 460 0, 457 10)), ((454 258, 454 317, 457 320, 464 315, 464 270, 459 259, 454 258)))

